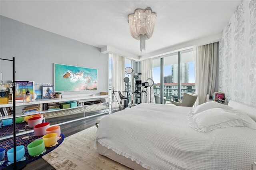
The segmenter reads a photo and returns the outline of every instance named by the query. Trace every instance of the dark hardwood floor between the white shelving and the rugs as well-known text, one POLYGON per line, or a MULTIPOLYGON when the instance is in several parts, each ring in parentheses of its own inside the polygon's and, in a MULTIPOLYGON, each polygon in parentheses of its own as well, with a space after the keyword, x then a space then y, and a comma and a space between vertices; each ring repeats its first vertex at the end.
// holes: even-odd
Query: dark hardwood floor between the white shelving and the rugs
MULTIPOLYGON (((116 112, 116 111, 112 111, 112 113, 114 113, 114 112, 116 112)), ((101 111, 91 112, 90 115, 96 114, 96 113, 101 113, 101 111)), ((108 112, 104 115, 99 115, 96 117, 60 125, 61 132, 64 134, 64 136, 66 138, 72 134, 75 134, 75 133, 80 132, 86 128, 94 126, 94 124, 96 123, 96 120, 101 119, 102 117, 104 117, 106 115, 108 115, 108 112)), ((72 115, 72 117, 76 117, 76 119, 80 118, 80 116, 81 115, 79 115, 79 114, 72 115)), ((60 121, 60 119, 61 118, 55 118, 55 119, 52 118, 51 121, 54 123, 58 123, 60 121)), ((70 120, 69 116, 65 117, 64 119, 70 120)), ((62 121, 63 121, 63 119, 62 119, 62 121)), ((39 158, 38 160, 35 160, 35 161, 27 164, 27 166, 24 168, 24 170, 54 170, 54 168, 50 164, 48 164, 43 158, 39 158)))

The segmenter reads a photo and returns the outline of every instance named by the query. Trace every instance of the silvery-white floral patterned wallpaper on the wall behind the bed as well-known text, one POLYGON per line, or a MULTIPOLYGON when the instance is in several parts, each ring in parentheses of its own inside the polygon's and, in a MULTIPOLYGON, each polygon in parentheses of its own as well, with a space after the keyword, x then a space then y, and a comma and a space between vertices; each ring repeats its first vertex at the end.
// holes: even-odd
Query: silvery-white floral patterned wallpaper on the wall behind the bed
POLYGON ((256 106, 256 0, 242 0, 222 32, 219 90, 256 106))

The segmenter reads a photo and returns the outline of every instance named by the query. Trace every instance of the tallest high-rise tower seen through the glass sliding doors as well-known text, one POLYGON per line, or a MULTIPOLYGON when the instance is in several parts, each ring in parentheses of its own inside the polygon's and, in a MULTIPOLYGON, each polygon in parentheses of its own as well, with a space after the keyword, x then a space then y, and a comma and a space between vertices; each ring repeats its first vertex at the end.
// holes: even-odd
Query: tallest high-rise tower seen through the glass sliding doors
MULTIPOLYGON (((181 83, 188 83, 189 63, 180 64, 181 83)), ((172 83, 178 83, 178 64, 172 65, 172 83)))

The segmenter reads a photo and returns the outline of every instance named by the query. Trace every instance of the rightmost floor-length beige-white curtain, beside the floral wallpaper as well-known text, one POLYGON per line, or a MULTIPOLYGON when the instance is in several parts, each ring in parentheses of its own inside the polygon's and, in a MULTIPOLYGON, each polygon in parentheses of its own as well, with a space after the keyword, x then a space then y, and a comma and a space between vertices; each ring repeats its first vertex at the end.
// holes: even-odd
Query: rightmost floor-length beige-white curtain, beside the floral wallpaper
POLYGON ((196 79, 196 105, 204 103, 206 95, 212 95, 215 88, 218 59, 218 42, 194 48, 196 79))

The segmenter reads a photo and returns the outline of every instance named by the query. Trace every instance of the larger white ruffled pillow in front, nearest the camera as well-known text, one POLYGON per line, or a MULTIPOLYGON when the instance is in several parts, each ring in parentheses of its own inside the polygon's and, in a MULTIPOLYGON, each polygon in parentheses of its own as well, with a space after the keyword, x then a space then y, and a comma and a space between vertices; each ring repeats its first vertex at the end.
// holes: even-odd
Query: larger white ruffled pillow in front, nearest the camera
POLYGON ((209 132, 216 128, 249 127, 256 129, 254 122, 246 113, 234 109, 214 108, 196 115, 190 115, 189 125, 200 132, 209 132))

